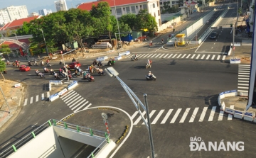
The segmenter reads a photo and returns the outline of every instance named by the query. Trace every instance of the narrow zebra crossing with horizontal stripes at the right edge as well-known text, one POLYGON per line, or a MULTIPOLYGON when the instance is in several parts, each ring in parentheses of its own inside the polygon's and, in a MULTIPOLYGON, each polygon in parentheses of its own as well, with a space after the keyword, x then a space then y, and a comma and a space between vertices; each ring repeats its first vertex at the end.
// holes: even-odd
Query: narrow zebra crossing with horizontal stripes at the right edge
POLYGON ((250 64, 238 65, 238 92, 248 93, 250 80, 250 64))

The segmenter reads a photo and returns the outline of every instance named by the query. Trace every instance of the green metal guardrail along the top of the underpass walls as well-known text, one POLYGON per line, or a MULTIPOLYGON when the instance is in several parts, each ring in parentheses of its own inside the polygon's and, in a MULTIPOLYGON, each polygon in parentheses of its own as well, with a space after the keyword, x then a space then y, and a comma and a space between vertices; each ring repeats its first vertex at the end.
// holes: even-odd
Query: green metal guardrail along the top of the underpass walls
POLYGON ((36 135, 43 132, 43 130, 46 130, 46 128, 52 126, 52 124, 55 126, 65 128, 65 129, 69 128, 72 130, 76 130, 77 132, 80 132, 80 134, 83 134, 83 132, 86 132, 86 133, 90 133, 91 136, 97 135, 100 137, 105 137, 105 140, 102 141, 102 143, 98 147, 96 147, 96 149, 90 154, 89 157, 94 157, 94 155, 100 151, 99 149, 100 149, 100 147, 102 147, 104 145, 104 143, 110 142, 110 134, 108 134, 107 132, 103 132, 100 130, 92 130, 92 128, 85 128, 85 127, 82 127, 79 125, 65 123, 64 121, 50 119, 46 123, 43 123, 43 125, 36 128, 36 130, 33 130, 30 134, 26 135, 25 137, 22 137, 21 140, 18 140, 18 142, 15 142, 14 145, 11 145, 7 149, 5 149, 4 152, 1 152, 0 157, 8 157, 13 152, 16 152, 17 149, 19 149, 20 147, 25 145, 27 142, 29 142, 33 138, 36 138, 36 135))

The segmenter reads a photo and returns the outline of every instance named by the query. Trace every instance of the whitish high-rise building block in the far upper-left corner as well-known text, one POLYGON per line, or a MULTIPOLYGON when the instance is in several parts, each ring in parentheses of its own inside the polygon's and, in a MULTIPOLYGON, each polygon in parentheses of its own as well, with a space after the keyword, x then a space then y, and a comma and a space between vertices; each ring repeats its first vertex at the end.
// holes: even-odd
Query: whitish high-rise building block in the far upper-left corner
POLYGON ((28 17, 26 6, 9 6, 0 10, 0 24, 28 17))

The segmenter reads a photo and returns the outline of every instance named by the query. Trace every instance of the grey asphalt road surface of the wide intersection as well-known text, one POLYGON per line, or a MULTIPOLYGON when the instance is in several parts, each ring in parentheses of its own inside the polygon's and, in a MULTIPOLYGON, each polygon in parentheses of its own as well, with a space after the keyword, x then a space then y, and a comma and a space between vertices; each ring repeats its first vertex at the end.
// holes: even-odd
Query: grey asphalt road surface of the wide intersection
MULTIPOLYGON (((220 36, 223 34, 225 33, 221 33, 220 36)), ((229 38, 219 40, 220 38, 218 38, 218 43, 225 41, 230 43, 229 38)), ((213 45, 213 41, 207 41, 198 50, 203 49, 206 43, 213 45)), ((140 49, 143 51, 137 48, 130 50, 144 55, 139 58, 139 61, 132 62, 127 57, 117 61, 114 68, 119 72, 119 78, 137 94, 142 102, 144 102, 143 94, 148 95, 149 111, 152 113, 154 149, 157 157, 253 157, 255 125, 235 118, 230 119, 228 115, 220 119, 218 94, 222 91, 237 89, 238 83, 238 65, 225 63, 221 57, 217 60, 218 52, 223 47, 215 47, 214 52, 217 53, 212 53, 208 60, 206 60, 207 55, 203 57, 203 50, 203 53, 195 52, 195 50, 171 52, 161 49, 161 45, 142 47, 144 48, 140 49), (150 56, 153 60, 150 71, 156 75, 156 81, 145 79, 145 75, 149 72, 149 69, 145 69, 148 59, 146 54, 161 54, 158 57, 157 55, 150 56), (171 54, 173 55, 170 56, 171 54), (174 57, 175 54, 176 57, 174 57), (191 55, 188 57, 189 54, 191 55), (194 54, 195 57, 193 57, 194 54), (211 60, 213 55, 216 56, 214 60, 211 60), (217 148, 222 140, 225 142, 225 147, 227 147, 227 142, 242 141, 244 151, 238 151, 239 147, 235 151, 224 151, 224 149, 217 152, 202 151, 202 149, 191 151, 189 146, 191 137, 201 137, 206 147, 208 147, 208 142, 216 142, 217 148)), ((210 47, 204 49, 207 49, 206 54, 210 52, 210 47)), ((85 64, 82 69, 86 69, 92 60, 80 60, 82 64, 85 64)), ((55 64, 53 68, 58 69, 59 65, 55 64)), ((24 98, 33 96, 35 99, 36 95, 46 93, 43 85, 48 84, 51 77, 47 75, 46 79, 39 79, 33 75, 33 71, 17 72, 14 69, 9 70, 6 79, 25 81, 28 84, 28 90, 24 98)), ((145 125, 142 125, 142 120, 138 120, 139 115, 134 115, 136 108, 119 81, 107 75, 92 75, 95 77, 95 82, 80 80, 79 85, 74 89, 75 93, 71 95, 73 99, 76 99, 76 95, 80 95, 82 101, 88 101, 88 103, 85 102, 85 106, 89 104, 90 107, 114 106, 134 116, 132 135, 114 157, 151 156, 148 132, 145 125)), ((74 106, 70 108, 62 98, 54 102, 35 100, 33 103, 28 102, 26 106, 21 103, 23 106, 21 113, 4 132, 1 132, 0 151, 29 133, 34 128, 32 125, 41 125, 50 118, 61 119, 80 108, 74 108, 74 106), (6 145, 8 142, 9 145, 6 145)), ((85 106, 82 106, 80 110, 85 106)))

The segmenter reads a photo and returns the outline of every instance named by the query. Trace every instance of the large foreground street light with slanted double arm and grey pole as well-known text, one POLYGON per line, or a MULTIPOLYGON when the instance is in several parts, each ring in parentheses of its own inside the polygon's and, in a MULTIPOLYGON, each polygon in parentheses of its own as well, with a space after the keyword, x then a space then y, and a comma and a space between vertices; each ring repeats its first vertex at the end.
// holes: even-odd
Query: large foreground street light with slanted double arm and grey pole
POLYGON ((129 98, 131 98, 132 103, 134 103, 134 106, 137 108, 137 111, 139 112, 139 115, 142 117, 142 120, 144 121, 145 125, 146 125, 146 129, 149 130, 149 141, 150 141, 150 147, 151 147, 151 154, 152 154, 152 158, 155 157, 155 153, 154 153, 154 144, 153 144, 153 137, 152 137, 152 131, 151 131, 151 122, 150 122, 150 117, 149 117, 149 106, 148 106, 148 102, 147 102, 147 95, 144 94, 144 101, 145 101, 145 105, 143 105, 142 101, 139 100, 139 98, 134 94, 134 92, 129 89, 129 86, 127 86, 124 81, 122 81, 119 77, 118 77, 118 72, 113 68, 113 67, 107 67, 105 69, 105 72, 110 75, 110 77, 116 78, 121 86, 124 88, 124 91, 127 92, 129 98), (134 100, 135 98, 135 100, 134 100), (146 118, 147 120, 145 120, 144 115, 142 115, 142 111, 140 110, 140 106, 143 108, 142 110, 146 111, 146 118))

